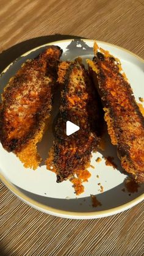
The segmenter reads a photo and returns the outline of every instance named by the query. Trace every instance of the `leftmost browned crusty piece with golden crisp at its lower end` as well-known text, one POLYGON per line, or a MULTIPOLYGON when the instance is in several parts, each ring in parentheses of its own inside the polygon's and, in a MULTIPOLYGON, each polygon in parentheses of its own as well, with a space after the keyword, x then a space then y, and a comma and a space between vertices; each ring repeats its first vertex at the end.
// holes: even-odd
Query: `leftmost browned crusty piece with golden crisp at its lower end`
POLYGON ((1 143, 25 167, 36 169, 41 161, 37 143, 48 125, 61 54, 58 46, 48 46, 37 58, 27 60, 2 94, 1 143))

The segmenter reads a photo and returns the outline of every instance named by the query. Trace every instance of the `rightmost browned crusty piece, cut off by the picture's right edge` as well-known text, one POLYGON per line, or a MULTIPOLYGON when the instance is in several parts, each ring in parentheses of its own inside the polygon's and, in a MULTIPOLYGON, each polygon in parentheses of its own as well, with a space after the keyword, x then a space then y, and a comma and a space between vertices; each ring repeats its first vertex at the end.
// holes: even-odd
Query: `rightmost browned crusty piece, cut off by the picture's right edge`
POLYGON ((121 166, 135 181, 144 182, 144 119, 135 102, 120 60, 94 45, 95 57, 87 60, 103 101, 104 119, 121 166))

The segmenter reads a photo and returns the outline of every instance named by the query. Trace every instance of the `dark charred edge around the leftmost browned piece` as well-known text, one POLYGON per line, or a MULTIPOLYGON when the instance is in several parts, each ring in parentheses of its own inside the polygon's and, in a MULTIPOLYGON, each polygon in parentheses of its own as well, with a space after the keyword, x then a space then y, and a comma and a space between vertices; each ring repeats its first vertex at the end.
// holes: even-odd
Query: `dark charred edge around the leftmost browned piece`
MULTIPOLYGON (((49 45, 46 49, 48 49, 48 48, 59 49, 59 58, 60 58, 60 56, 62 56, 62 49, 59 46, 53 46, 53 45, 50 46, 49 45)), ((45 53, 45 51, 44 51, 44 53, 45 53)), ((39 54, 38 57, 35 59, 40 58, 40 56, 42 54, 43 53, 39 54)), ((25 64, 26 64, 26 62, 25 62, 25 64)), ((49 62, 48 67, 47 67, 47 68, 49 68, 51 66, 50 68, 52 71, 52 79, 53 79, 53 82, 49 83, 49 87, 51 87, 51 89, 52 89, 51 99, 49 100, 49 105, 52 105, 52 97, 53 97, 53 93, 54 93, 54 89, 52 88, 52 85, 54 84, 56 86, 58 64, 59 64, 59 60, 54 60, 54 61, 52 61, 52 63, 49 62), (53 67, 53 70, 52 70, 52 67, 53 67)), ((46 75, 48 75, 48 74, 46 74, 46 75)), ((15 76, 13 76, 13 77, 15 78, 15 76)), ((16 85, 14 85, 13 87, 15 87, 15 86, 16 85)), ((8 89, 10 89, 10 87, 8 89)), ((8 91, 8 93, 5 93, 4 101, 10 100, 9 94, 10 94, 10 90, 8 91)), ((23 140, 21 140, 21 141, 18 141, 18 139, 12 139, 11 142, 7 143, 7 141, 6 141, 7 137, 5 137, 5 132, 4 132, 4 129, 2 128, 2 126, 4 125, 4 106, 2 106, 2 105, 3 104, 1 103, 1 108, 0 108, 0 140, 1 140, 1 144, 5 148, 5 150, 7 150, 7 152, 19 153, 31 139, 34 139, 34 137, 38 133, 38 131, 40 131, 41 122, 43 122, 43 119, 45 119, 45 115, 50 116, 51 109, 46 111, 45 104, 43 104, 43 108, 41 108, 39 112, 35 113, 35 126, 32 127, 32 131, 27 133, 26 136, 24 136, 23 140)))

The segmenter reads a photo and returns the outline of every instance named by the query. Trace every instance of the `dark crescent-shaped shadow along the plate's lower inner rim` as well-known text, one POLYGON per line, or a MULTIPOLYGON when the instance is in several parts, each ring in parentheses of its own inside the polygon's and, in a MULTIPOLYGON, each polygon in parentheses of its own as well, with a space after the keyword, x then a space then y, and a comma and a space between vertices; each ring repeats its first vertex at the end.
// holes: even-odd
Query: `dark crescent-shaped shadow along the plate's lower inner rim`
POLYGON ((143 186, 141 186, 138 192, 135 192, 131 194, 131 196, 129 196, 128 192, 121 191, 121 189, 124 188, 123 183, 121 183, 115 188, 109 189, 109 191, 96 194, 96 199, 98 199, 102 205, 98 207, 92 207, 92 199, 90 196, 82 198, 77 197, 75 199, 57 199, 53 197, 48 197, 48 192, 44 193, 46 194, 46 196, 40 196, 21 189, 18 186, 16 186, 16 188, 19 191, 23 192, 23 194, 28 196, 29 198, 35 200, 38 203, 43 203, 48 207, 52 207, 58 210, 74 211, 81 213, 103 211, 118 207, 120 205, 123 205, 124 203, 131 202, 132 199, 140 196, 143 191, 143 186))

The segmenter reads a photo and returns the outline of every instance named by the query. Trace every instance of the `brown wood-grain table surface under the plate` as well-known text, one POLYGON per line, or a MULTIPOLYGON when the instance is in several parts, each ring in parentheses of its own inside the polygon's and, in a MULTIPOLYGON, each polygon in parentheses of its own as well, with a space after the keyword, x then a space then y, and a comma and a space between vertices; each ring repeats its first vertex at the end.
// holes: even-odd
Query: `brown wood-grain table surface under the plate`
MULTIPOLYGON (((143 0, 0 0, 0 69, 35 46, 74 36, 144 57, 143 0)), ((144 204, 109 218, 41 213, 1 183, 0 255, 143 255, 144 204)))

